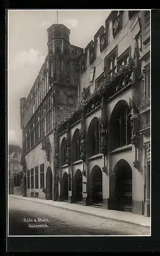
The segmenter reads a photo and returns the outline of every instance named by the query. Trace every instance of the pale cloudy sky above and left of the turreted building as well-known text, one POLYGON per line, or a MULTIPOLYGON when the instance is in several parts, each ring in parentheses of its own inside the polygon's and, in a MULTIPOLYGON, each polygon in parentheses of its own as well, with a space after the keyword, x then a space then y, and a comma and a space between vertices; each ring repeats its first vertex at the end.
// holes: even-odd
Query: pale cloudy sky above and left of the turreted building
MULTIPOLYGON (((85 48, 94 40, 98 29, 105 27, 110 11, 60 10, 58 13, 58 23, 71 30, 71 44, 85 48)), ((19 99, 28 96, 47 56, 47 29, 57 23, 57 17, 56 10, 11 10, 8 16, 9 143, 21 146, 19 99)))

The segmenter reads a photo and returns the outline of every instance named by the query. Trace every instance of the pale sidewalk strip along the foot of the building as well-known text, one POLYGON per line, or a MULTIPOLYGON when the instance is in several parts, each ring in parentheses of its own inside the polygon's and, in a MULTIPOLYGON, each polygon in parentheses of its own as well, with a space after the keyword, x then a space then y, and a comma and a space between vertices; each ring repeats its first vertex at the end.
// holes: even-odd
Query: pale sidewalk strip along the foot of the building
POLYGON ((47 204, 54 207, 59 207, 66 210, 73 210, 83 214, 93 215, 101 218, 116 220, 120 222, 127 222, 135 225, 150 227, 150 218, 143 215, 132 214, 131 212, 106 210, 102 208, 96 208, 92 206, 84 206, 79 204, 70 204, 67 202, 57 202, 52 200, 42 200, 39 198, 28 198, 15 195, 9 195, 10 198, 17 198, 21 200, 27 200, 37 202, 41 204, 47 204))

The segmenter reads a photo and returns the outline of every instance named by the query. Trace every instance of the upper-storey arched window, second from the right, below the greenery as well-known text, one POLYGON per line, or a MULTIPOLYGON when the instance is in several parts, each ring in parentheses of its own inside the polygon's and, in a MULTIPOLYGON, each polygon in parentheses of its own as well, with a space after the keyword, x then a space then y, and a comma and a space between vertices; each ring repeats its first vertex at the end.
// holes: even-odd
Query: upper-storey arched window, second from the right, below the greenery
POLYGON ((94 117, 89 124, 88 133, 88 157, 92 157, 100 153, 100 129, 99 119, 94 117))

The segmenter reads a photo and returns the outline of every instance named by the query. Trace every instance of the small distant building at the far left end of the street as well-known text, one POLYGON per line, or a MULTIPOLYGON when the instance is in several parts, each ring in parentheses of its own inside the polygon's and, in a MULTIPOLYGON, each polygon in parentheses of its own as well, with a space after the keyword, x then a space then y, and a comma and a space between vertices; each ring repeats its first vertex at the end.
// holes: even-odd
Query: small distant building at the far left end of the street
POLYGON ((20 161, 21 151, 15 150, 9 155, 9 194, 17 194, 16 187, 19 187, 20 184, 22 185, 22 166, 20 161))

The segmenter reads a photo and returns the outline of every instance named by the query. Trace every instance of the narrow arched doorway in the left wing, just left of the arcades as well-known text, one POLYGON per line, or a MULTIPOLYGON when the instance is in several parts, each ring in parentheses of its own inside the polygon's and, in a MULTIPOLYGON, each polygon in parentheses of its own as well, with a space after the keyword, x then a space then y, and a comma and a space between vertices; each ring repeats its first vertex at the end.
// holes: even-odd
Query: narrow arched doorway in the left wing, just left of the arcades
POLYGON ((53 175, 49 166, 46 173, 46 199, 53 200, 53 175))

